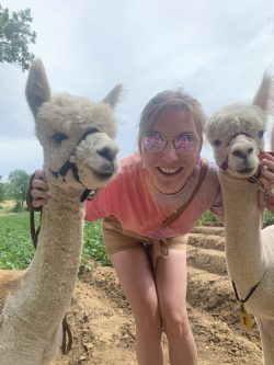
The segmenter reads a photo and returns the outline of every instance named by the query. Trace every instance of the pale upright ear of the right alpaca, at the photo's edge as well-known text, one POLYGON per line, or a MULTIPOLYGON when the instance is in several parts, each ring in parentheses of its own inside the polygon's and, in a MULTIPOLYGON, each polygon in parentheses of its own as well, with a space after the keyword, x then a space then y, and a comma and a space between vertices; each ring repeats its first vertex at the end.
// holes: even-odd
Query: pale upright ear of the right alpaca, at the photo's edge
POLYGON ((274 103, 274 78, 271 70, 266 69, 261 85, 253 99, 252 104, 260 106, 263 111, 270 111, 274 103))

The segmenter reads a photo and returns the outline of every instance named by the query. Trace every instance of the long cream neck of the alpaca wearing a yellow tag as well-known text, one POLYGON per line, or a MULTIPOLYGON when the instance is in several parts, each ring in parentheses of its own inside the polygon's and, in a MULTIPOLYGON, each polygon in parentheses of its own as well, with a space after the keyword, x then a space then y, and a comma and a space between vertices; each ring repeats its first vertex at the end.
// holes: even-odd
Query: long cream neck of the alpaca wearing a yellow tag
POLYGON ((244 298, 265 270, 258 192, 248 181, 224 172, 219 172, 219 182, 225 209, 228 271, 239 296, 244 298))

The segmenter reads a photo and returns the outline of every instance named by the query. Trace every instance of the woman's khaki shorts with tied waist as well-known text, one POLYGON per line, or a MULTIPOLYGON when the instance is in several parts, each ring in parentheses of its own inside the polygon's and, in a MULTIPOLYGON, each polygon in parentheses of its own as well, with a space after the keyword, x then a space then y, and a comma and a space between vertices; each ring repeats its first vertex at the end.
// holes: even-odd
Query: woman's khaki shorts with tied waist
POLYGON ((152 239, 139 236, 130 230, 124 229, 115 217, 104 218, 102 224, 102 233, 105 242, 105 249, 109 255, 135 248, 152 249, 153 266, 157 265, 159 256, 167 256, 170 249, 186 250, 187 235, 171 237, 165 239, 152 239))

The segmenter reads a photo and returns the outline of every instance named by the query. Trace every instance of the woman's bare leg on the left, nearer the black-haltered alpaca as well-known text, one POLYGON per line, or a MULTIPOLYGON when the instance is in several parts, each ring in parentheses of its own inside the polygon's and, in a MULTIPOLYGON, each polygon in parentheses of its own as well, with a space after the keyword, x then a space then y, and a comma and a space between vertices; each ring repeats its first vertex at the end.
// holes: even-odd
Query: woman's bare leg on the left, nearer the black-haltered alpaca
POLYGON ((142 247, 111 255, 136 321, 136 353, 139 365, 162 365, 162 323, 153 275, 142 247))

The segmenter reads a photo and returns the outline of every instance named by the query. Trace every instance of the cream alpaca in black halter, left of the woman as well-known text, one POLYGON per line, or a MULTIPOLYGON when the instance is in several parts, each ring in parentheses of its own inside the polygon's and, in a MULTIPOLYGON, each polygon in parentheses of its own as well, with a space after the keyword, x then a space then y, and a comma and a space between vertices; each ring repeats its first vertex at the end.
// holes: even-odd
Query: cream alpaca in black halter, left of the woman
POLYGON ((37 250, 25 271, 0 272, 0 364, 48 365, 60 355, 61 321, 80 263, 85 189, 100 189, 117 171, 113 107, 122 85, 101 103, 52 98, 35 60, 26 82, 52 198, 43 208, 37 250))

